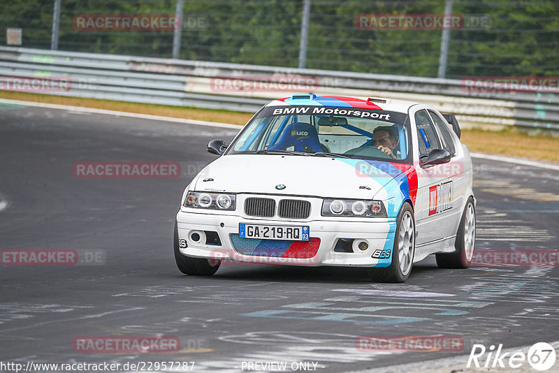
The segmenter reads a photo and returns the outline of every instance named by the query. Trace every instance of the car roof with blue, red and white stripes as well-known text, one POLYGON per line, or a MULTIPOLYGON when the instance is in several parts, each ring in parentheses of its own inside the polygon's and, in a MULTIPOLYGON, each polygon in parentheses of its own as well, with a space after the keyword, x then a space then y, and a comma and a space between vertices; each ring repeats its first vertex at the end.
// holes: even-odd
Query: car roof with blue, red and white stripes
POLYGON ((296 94, 291 97, 277 98, 266 106, 305 105, 305 106, 333 106, 337 108, 356 108, 389 110, 407 113, 414 101, 395 100, 381 97, 349 97, 349 96, 317 96, 316 94, 296 94))

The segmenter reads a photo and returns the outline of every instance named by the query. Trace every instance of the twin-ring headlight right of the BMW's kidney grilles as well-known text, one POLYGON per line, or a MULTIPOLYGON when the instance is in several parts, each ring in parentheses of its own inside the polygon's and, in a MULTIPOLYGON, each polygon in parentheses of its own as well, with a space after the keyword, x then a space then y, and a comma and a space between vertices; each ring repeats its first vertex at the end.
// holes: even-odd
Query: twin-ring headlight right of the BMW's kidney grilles
POLYGON ((381 200, 324 200, 323 217, 386 217, 381 200))

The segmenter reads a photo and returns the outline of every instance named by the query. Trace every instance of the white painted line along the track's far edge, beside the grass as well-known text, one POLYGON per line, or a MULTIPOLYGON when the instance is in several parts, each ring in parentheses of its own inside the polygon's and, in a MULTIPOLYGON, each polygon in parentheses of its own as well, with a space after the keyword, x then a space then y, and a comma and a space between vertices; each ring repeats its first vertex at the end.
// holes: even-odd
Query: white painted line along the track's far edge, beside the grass
MULTIPOLYGON (((0 103, 13 103, 15 105, 27 105, 36 106, 38 108, 49 108, 49 109, 59 109, 59 110, 71 110, 77 112, 89 112, 92 114, 104 114, 104 115, 118 115, 119 117, 131 117, 140 119, 150 119, 150 120, 160 120, 164 122, 175 122, 184 124, 196 124, 198 126, 210 126, 210 127, 222 127, 226 129, 240 129, 241 126, 237 124, 220 123, 220 122, 206 122, 203 120, 194 119, 183 119, 174 117, 164 117, 162 115, 149 115, 149 114, 137 114, 135 112, 124 112, 116 110, 104 110, 104 109, 93 109, 93 108, 81 108, 80 106, 70 106, 70 105, 57 105, 55 103, 38 103, 30 101, 19 101, 19 100, 8 100, 5 98, 0 98, 0 103)), ((514 158, 510 156, 496 156, 484 153, 470 153, 472 158, 489 159, 491 161, 500 161, 506 163, 514 163, 522 166, 531 166, 537 168, 546 168, 548 170, 559 171, 559 165, 553 163, 544 163, 542 161, 530 161, 529 159, 514 158)))

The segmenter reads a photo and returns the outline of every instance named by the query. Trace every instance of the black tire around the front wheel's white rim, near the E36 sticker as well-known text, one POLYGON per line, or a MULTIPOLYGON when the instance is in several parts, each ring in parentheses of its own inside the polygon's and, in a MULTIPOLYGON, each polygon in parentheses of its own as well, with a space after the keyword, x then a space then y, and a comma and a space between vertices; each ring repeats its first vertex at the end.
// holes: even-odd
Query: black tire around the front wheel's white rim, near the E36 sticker
MULTIPOLYGON (((373 281, 378 282, 405 282, 409 277, 409 274, 412 272, 412 265, 414 261, 415 255, 415 219, 414 219, 414 210, 412 210, 412 206, 409 203, 404 203, 400 212, 398 212, 398 219, 396 220, 396 233, 394 237, 394 246, 392 247, 392 263, 389 267, 386 268, 368 268, 369 278, 373 281), (405 218, 406 217, 406 218, 405 218), (404 240, 409 240, 409 244, 411 245, 411 258, 408 255, 405 258, 408 258, 410 261, 409 268, 405 272, 402 272, 400 266, 400 256, 398 255, 398 247, 400 247, 400 228, 402 228, 402 221, 406 219, 407 224, 412 224, 412 234, 405 234, 404 240), (409 219, 409 220, 407 220, 409 219)), ((408 264, 405 266, 408 267, 408 264)))

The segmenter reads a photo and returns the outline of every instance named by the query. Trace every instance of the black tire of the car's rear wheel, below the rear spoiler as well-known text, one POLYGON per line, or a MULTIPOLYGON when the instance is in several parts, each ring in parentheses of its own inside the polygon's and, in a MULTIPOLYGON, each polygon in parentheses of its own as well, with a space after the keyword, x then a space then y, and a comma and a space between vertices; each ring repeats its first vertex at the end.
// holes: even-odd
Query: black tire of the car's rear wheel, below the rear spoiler
MULTIPOLYGON (((474 258, 475 221, 476 208, 474 205, 474 198, 470 197, 467 199, 464 212, 462 213, 462 219, 460 219, 460 224, 458 225, 458 233, 456 233, 456 241, 454 242, 456 251, 452 253, 435 254, 435 257, 437 258, 437 265, 439 266, 439 268, 470 267, 470 264, 472 264, 472 258, 474 258), (471 212, 473 213, 473 238, 466 235, 466 224, 468 223, 467 213, 468 209, 470 208, 472 209, 471 212), (470 249, 470 244, 471 251, 468 252, 468 250, 470 249)), ((469 229, 471 229, 471 226, 469 229)))

